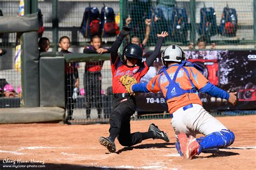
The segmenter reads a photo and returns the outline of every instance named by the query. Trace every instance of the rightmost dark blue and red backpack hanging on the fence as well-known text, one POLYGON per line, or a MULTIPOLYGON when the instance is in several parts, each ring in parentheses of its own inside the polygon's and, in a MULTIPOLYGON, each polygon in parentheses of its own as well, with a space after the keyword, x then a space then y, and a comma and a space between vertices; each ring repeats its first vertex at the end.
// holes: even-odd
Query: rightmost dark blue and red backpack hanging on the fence
POLYGON ((220 20, 219 34, 221 36, 234 37, 237 34, 237 11, 226 6, 220 20))

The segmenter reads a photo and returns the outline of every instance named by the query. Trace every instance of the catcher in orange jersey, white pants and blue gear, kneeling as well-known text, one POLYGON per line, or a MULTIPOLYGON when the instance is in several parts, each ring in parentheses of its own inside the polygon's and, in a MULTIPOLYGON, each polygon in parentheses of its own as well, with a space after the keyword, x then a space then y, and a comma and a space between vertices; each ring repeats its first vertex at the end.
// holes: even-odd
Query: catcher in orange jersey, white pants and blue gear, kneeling
POLYGON ((177 45, 167 46, 161 59, 165 67, 148 83, 136 84, 124 76, 123 85, 130 93, 163 92, 171 113, 178 153, 184 158, 192 158, 208 149, 233 144, 234 133, 204 110, 198 93, 227 99, 232 105, 237 102, 237 93, 227 93, 211 84, 197 65, 186 63, 185 53, 177 45), (199 133, 205 137, 195 138, 199 133))

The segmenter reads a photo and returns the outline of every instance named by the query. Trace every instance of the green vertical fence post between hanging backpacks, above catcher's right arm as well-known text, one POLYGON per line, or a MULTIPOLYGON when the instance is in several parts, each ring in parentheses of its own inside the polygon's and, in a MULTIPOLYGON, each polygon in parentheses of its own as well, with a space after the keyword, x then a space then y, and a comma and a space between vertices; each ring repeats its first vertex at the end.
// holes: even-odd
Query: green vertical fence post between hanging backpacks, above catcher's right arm
POLYGON ((196 1, 190 0, 190 42, 196 44, 196 1))

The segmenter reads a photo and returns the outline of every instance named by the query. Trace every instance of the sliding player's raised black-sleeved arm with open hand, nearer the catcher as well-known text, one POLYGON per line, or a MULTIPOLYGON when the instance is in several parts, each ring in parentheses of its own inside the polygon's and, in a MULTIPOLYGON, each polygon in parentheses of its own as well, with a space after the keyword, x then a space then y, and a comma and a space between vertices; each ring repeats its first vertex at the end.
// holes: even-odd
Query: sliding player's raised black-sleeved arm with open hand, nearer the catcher
POLYGON ((157 34, 157 37, 158 37, 157 44, 156 44, 156 47, 154 47, 154 51, 153 51, 152 55, 150 55, 150 57, 147 58, 147 60, 146 60, 147 66, 151 66, 153 64, 154 60, 157 58, 157 55, 161 50, 161 46, 163 44, 164 37, 167 37, 168 35, 169 35, 169 33, 167 31, 162 31, 160 34, 157 34))

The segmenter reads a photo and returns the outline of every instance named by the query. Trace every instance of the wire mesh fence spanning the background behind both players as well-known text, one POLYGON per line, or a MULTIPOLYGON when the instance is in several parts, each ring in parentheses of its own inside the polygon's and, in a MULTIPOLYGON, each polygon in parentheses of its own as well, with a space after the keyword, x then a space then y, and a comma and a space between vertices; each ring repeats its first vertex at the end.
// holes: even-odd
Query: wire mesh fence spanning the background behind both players
MULTIPOLYGON (((69 51, 73 53, 82 53, 84 46, 90 45, 90 37, 85 37, 82 33, 83 18, 85 9, 97 8, 99 14, 102 13, 104 6, 110 7, 115 13, 117 26, 130 25, 133 30, 129 36, 129 41, 137 37, 142 43, 145 38, 146 51, 152 51, 156 44, 156 34, 161 31, 169 31, 169 38, 165 39, 164 46, 170 44, 179 44, 184 49, 198 49, 198 39, 203 37, 206 48, 214 45, 215 49, 254 49, 254 1, 244 2, 238 0, 228 1, 187 1, 177 0, 166 1, 146 1, 146 0, 121 0, 121 1, 58 1, 57 6, 53 1, 38 1, 38 8, 43 15, 44 32, 43 37, 50 40, 51 48, 54 51, 57 46, 54 37, 59 39, 62 36, 68 36, 71 40, 69 51), (53 20, 53 11, 57 10, 57 21, 53 20), (53 33, 53 22, 57 22, 57 35, 53 33), (150 28, 148 37, 146 29, 150 28)), ((0 9, 4 16, 17 16, 19 13, 19 1, 0 1, 0 9)), ((100 15, 99 15, 100 19, 100 15)), ((100 20, 101 22, 101 20, 100 20)), ((109 37, 103 36, 103 46, 110 47, 116 39, 117 34, 109 37)), ((12 85, 15 95, 18 97, 18 87, 21 85, 21 73, 15 69, 15 46, 16 33, 0 33, 0 49, 4 51, 0 55, 0 87, 2 89, 6 83, 12 85)), ((125 44, 125 43, 124 43, 125 44)), ((58 49, 59 51, 60 49, 58 49)), ((105 61, 100 71, 101 76, 92 75, 92 80, 101 79, 100 101, 97 104, 96 97, 92 94, 90 103, 90 118, 87 119, 85 106, 85 62, 80 62, 78 67, 79 92, 76 100, 73 102, 72 113, 73 124, 107 122, 112 109, 112 76, 110 70, 110 61, 105 61), (98 77, 97 77, 98 76, 98 77), (101 78, 99 78, 101 77, 101 78), (83 90, 82 90, 83 89, 83 90), (95 99, 94 99, 95 98, 95 99), (100 117, 98 117, 98 110, 100 117)), ((98 81, 97 81, 98 82, 98 81)), ((97 86, 96 81, 92 81, 93 86, 97 86)), ((72 92, 70 92, 72 93, 72 92)), ((4 101, 0 107, 18 107, 19 101, 4 101)), ((239 111, 227 113, 225 115, 247 114, 239 111)), ((248 113, 248 114, 255 114, 248 113)), ((216 113, 215 115, 223 115, 216 113)), ((168 113, 156 114, 134 114, 133 119, 151 119, 151 118, 170 118, 168 113)))

